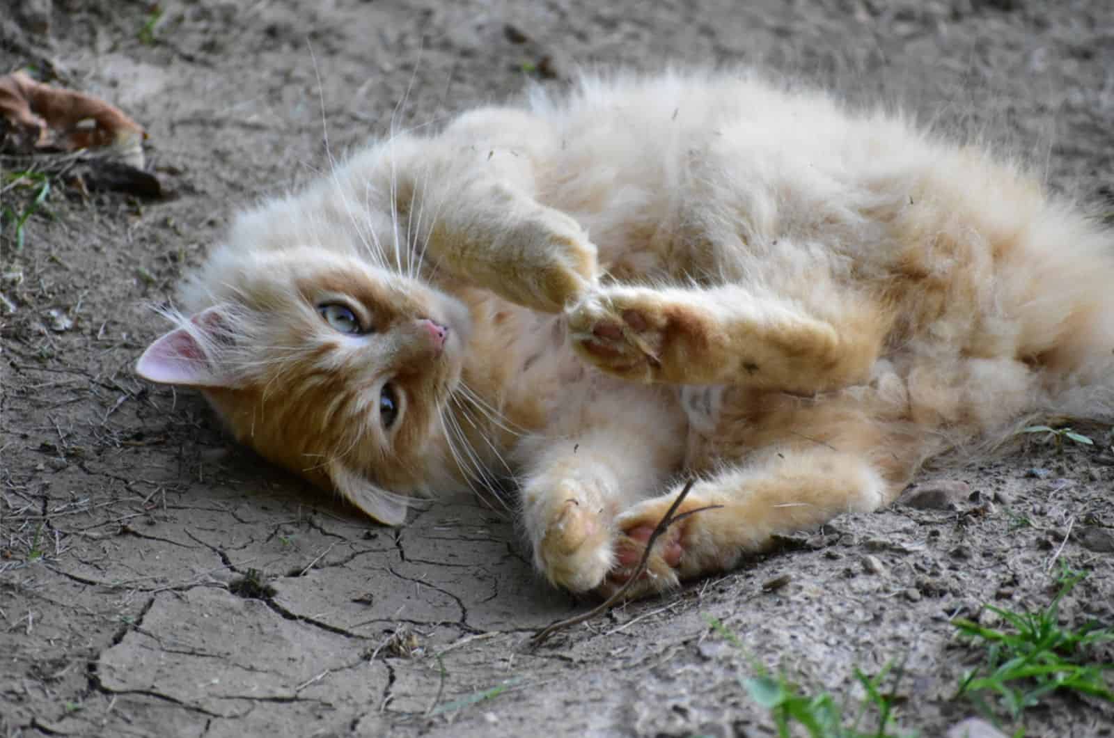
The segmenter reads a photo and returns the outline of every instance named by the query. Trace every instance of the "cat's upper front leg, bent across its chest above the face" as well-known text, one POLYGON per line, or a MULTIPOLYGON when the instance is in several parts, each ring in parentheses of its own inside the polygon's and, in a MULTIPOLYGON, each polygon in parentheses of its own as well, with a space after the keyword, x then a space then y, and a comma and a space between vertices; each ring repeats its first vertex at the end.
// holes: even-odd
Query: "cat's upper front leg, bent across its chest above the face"
POLYGON ((442 276, 558 312, 596 281, 596 246, 573 217, 538 202, 538 169, 559 147, 548 122, 482 108, 432 140, 410 142, 394 186, 413 245, 442 276))

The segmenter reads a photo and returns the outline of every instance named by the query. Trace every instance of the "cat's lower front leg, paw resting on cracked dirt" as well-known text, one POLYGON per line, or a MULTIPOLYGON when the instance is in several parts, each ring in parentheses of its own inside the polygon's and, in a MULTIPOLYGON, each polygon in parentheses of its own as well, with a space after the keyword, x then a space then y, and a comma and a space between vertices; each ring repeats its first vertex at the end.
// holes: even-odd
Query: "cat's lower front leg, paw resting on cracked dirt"
MULTIPOLYGON (((637 408, 616 408, 629 415, 637 408)), ((647 418, 595 425, 561 440, 536 439, 521 487, 521 522, 534 563, 574 592, 600 585, 615 569, 615 517, 663 488, 681 462, 683 428, 647 418)))

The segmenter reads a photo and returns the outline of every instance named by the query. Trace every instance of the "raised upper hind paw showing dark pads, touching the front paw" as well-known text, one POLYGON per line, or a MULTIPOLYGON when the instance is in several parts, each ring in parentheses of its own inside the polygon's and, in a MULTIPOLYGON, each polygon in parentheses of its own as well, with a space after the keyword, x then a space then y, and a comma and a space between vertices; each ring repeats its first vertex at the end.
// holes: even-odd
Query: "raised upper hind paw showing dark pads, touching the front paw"
POLYGON ((623 379, 661 379, 671 320, 654 290, 619 287, 594 292, 567 317, 582 358, 623 379))

